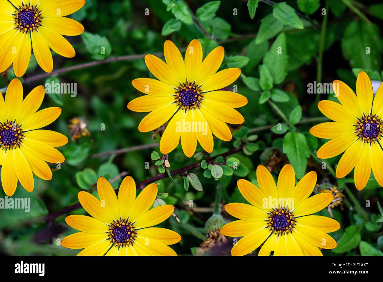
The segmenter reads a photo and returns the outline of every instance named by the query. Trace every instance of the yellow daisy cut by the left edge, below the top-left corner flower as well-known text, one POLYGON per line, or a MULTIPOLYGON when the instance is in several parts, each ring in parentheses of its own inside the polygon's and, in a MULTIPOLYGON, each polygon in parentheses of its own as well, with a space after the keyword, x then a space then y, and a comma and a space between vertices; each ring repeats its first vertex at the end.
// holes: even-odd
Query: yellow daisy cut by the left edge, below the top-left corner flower
POLYGON ((68 143, 68 138, 51 130, 37 130, 54 122, 61 114, 58 107, 36 112, 45 95, 37 86, 23 101, 23 86, 13 79, 5 94, 0 92, 0 165, 5 194, 15 193, 17 181, 31 192, 33 174, 44 180, 52 179, 49 163, 62 163, 64 156, 54 147, 68 143))

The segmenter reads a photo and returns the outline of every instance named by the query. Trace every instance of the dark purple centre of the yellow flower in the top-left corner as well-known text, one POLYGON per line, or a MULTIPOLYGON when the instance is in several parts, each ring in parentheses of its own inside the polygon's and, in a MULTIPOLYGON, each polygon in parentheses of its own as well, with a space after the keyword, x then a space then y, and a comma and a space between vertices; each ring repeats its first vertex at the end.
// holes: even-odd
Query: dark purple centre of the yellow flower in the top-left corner
POLYGON ((39 10, 33 6, 20 7, 16 11, 15 22, 21 31, 33 31, 41 23, 39 10))

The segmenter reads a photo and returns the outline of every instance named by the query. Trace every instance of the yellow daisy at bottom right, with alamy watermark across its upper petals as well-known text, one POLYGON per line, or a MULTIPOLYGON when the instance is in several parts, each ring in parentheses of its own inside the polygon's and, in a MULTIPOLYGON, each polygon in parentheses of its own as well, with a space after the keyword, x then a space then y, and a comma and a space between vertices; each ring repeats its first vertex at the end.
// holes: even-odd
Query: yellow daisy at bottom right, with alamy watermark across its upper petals
POLYGON ((285 165, 278 183, 263 165, 257 168, 259 188, 240 179, 242 196, 251 204, 230 203, 226 211, 239 220, 221 228, 230 237, 242 237, 231 250, 232 256, 243 256, 257 249, 259 256, 321 256, 322 249, 334 249, 337 244, 327 233, 340 228, 337 221, 326 216, 309 215, 331 203, 331 193, 311 196, 316 185, 316 172, 309 172, 295 186, 295 172, 285 165))

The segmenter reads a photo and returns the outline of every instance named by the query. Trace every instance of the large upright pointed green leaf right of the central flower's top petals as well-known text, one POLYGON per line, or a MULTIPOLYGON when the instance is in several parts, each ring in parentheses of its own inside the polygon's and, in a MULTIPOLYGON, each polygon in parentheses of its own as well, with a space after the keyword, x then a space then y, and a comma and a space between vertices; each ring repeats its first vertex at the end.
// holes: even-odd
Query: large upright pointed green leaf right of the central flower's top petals
MULTIPOLYGON (((281 33, 268 50, 263 63, 270 71, 273 78, 273 84, 278 84, 286 78, 287 66, 287 50, 286 50, 286 35, 281 33)), ((265 89, 267 90, 267 89, 265 89)))

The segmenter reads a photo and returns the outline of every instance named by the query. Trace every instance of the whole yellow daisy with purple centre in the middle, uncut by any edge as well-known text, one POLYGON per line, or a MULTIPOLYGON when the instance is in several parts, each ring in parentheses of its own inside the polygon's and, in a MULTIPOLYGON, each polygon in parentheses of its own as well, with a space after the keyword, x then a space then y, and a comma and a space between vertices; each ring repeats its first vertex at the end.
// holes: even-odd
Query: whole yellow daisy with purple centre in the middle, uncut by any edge
POLYGON ((222 89, 241 74, 241 69, 218 71, 224 58, 219 46, 202 61, 200 41, 190 42, 185 59, 172 41, 165 41, 165 61, 153 55, 145 56, 145 63, 159 80, 138 78, 132 81, 134 88, 145 96, 128 104, 136 112, 150 112, 138 126, 141 132, 154 130, 170 118, 160 141, 160 151, 165 154, 177 147, 181 139, 187 157, 193 156, 197 140, 202 148, 213 151, 213 134, 221 140, 231 140, 226 123, 241 124, 242 115, 234 108, 247 104, 246 97, 222 89))

